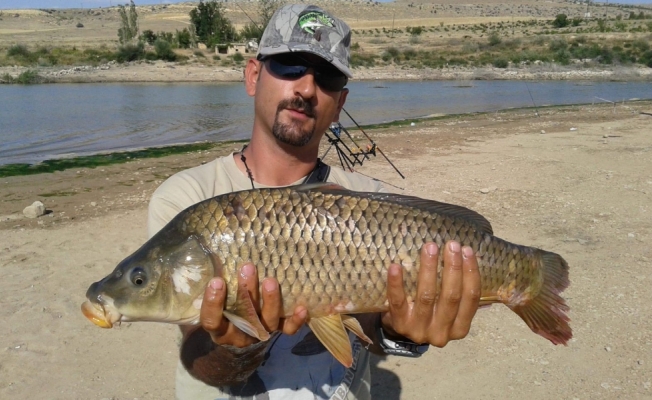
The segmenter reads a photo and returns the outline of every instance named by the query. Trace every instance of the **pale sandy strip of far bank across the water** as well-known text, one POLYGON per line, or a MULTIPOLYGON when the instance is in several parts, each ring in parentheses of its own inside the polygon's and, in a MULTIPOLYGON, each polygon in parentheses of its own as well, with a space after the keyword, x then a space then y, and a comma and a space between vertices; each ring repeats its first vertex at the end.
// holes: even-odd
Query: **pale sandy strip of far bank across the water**
MULTIPOLYGON (((0 77, 16 78, 26 67, 0 67, 0 77)), ((217 67, 203 64, 179 64, 164 61, 111 62, 100 66, 38 67, 38 73, 52 83, 98 82, 237 82, 242 80, 242 67, 217 67)), ((652 68, 647 67, 582 67, 552 64, 512 68, 355 68, 356 80, 589 80, 651 81, 652 68)), ((0 78, 1 79, 1 78, 0 78)))

